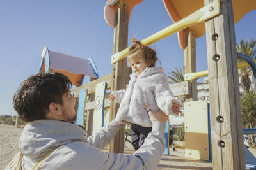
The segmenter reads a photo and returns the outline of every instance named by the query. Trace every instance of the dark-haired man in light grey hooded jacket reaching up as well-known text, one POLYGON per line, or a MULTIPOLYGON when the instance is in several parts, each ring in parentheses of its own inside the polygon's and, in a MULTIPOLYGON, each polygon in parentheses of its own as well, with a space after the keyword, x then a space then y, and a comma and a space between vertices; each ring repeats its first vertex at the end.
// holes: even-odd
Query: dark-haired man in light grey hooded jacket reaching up
POLYGON ((163 111, 149 111, 154 120, 152 132, 134 155, 102 152, 123 125, 113 120, 86 138, 84 130, 72 124, 76 99, 70 86, 61 73, 38 73, 23 81, 15 93, 13 107, 28 122, 20 137, 22 169, 32 169, 36 162, 42 163, 40 169, 156 169, 164 151, 168 119, 163 111))

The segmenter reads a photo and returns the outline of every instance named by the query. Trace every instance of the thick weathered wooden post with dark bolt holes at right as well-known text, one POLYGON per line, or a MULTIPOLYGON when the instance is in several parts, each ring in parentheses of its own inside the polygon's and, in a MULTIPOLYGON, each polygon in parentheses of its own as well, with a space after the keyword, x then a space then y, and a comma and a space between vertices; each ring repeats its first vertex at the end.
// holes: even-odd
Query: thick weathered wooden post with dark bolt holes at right
POLYGON ((220 1, 220 8, 220 15, 205 22, 212 163, 214 169, 245 169, 232 0, 220 1))

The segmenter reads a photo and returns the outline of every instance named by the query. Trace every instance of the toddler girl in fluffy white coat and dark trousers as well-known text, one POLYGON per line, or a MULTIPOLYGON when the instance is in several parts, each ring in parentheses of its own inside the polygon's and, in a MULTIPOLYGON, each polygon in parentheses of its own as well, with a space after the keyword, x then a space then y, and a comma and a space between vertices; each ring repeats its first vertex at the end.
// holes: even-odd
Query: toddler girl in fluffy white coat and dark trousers
POLYGON ((116 114, 116 122, 131 122, 131 139, 135 150, 144 143, 148 133, 152 131, 150 117, 145 103, 152 111, 161 109, 166 115, 181 113, 182 107, 173 97, 164 70, 155 67, 156 52, 140 41, 132 38, 128 61, 133 73, 127 90, 113 91, 109 95, 111 101, 121 103, 116 114))

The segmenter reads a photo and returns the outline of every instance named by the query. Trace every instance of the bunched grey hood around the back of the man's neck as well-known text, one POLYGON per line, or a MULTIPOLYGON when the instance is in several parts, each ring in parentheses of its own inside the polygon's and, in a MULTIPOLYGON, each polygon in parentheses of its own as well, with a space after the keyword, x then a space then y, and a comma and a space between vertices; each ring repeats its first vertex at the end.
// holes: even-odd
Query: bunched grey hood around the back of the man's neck
POLYGON ((24 155, 36 158, 48 148, 68 141, 87 141, 84 130, 69 122, 44 119, 25 125, 19 145, 24 155))

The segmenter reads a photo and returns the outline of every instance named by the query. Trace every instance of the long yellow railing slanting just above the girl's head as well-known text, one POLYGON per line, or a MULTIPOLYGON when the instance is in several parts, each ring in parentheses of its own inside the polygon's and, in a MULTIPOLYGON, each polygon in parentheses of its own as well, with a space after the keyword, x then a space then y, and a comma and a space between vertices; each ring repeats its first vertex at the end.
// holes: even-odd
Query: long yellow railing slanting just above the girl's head
MULTIPOLYGON (((166 38, 176 32, 182 31, 183 29, 186 29, 192 25, 198 24, 199 22, 203 22, 209 18, 212 18, 218 15, 219 13, 220 13, 220 2, 213 1, 212 3, 209 3, 203 8, 200 8, 199 10, 195 11, 188 17, 183 18, 182 20, 175 22, 174 24, 162 29, 161 31, 156 32, 152 36, 149 36, 148 38, 143 39, 141 43, 147 46, 151 45, 152 43, 156 43, 157 41, 163 38, 166 38)), ((125 50, 122 50, 121 52, 117 52, 113 54, 111 63, 115 64, 119 60, 126 57, 128 55, 129 48, 125 48, 125 50)))

